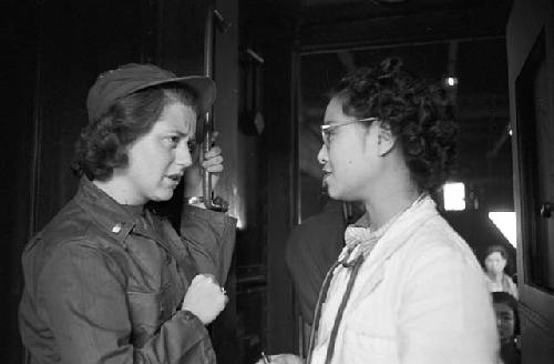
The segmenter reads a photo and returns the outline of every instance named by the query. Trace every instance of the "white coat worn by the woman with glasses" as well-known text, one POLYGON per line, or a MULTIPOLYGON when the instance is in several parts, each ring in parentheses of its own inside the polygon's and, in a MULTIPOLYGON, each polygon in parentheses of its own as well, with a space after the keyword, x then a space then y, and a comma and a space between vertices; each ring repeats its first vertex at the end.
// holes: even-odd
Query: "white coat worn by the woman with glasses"
MULTIPOLYGON (((325 362, 349 274, 340 265, 335 271, 312 364, 325 362)), ((332 363, 494 364, 497 343, 481 266, 424 198, 392 223, 361 265, 332 363)))

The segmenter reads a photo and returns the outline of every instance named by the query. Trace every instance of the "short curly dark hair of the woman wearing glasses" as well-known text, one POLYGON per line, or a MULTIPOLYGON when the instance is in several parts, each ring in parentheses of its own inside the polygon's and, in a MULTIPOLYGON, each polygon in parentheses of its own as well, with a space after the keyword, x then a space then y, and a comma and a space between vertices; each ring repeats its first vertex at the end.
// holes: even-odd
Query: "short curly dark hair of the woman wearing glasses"
POLYGON ((458 127, 453 105, 439 82, 401 70, 399 58, 346 75, 331 98, 355 118, 379 118, 400 142, 406 163, 421 191, 432 192, 449 178, 455 158, 458 127))

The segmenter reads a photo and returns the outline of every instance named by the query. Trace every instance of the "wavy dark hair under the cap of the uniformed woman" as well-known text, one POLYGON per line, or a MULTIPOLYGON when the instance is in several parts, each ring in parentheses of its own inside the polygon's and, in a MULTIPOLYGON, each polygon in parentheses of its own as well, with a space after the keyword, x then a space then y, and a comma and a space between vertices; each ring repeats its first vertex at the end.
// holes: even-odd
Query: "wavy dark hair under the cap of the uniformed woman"
POLYGON ((74 173, 91 181, 109 180, 115 168, 127 165, 127 146, 150 132, 164 108, 175 102, 197 110, 194 93, 171 83, 117 100, 81 131, 71 165, 74 173))

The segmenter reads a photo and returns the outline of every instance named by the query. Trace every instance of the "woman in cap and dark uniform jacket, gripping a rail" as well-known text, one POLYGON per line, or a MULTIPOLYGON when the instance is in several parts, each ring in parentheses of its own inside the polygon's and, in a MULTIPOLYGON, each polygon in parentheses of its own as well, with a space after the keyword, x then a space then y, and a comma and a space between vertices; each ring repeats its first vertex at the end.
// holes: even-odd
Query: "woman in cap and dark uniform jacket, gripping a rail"
MULTIPOLYGON (((227 302, 219 284, 235 221, 186 205, 179 236, 146 206, 170 200, 193 164, 197 115, 214 98, 209 79, 150 64, 105 72, 91 88, 79 191, 23 253, 29 363, 215 363, 205 325, 227 302)), ((204 158, 223 170, 219 148, 204 158)))

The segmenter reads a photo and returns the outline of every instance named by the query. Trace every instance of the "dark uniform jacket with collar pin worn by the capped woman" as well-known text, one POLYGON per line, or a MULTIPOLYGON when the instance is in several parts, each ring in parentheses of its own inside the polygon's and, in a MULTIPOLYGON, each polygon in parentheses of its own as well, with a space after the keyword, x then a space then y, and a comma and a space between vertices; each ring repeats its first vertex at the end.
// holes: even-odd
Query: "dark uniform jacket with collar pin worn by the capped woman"
POLYGON ((34 363, 215 363, 208 333, 179 311, 197 273, 224 283, 235 220, 187 206, 182 237, 89 180, 23 253, 19 320, 34 363))

